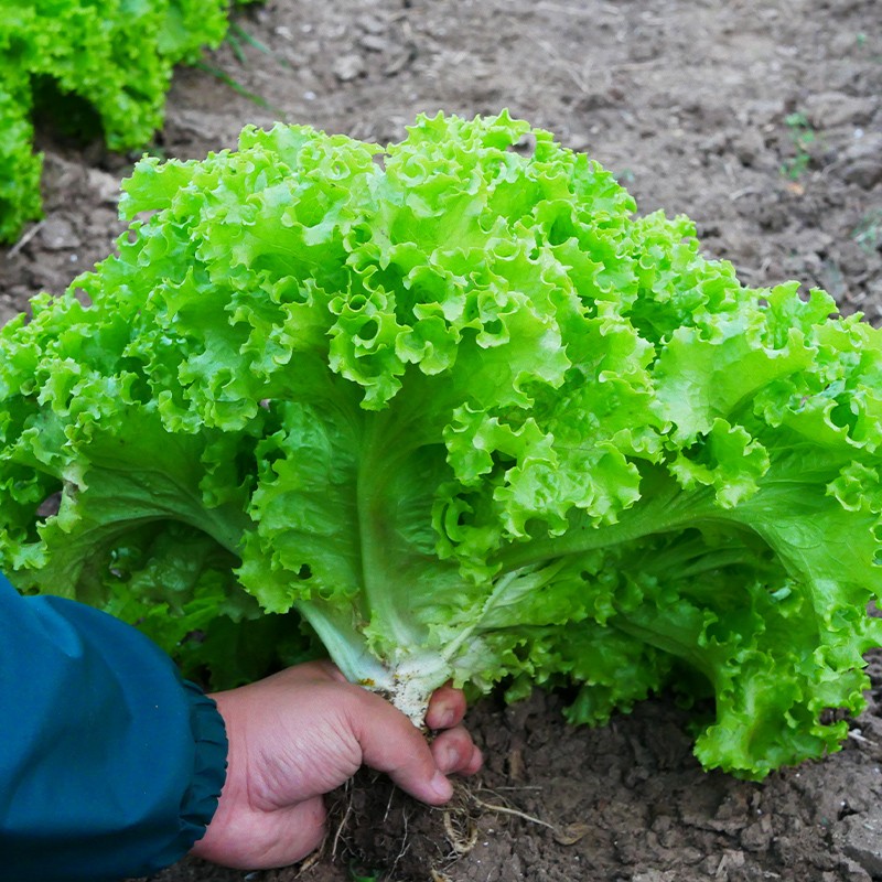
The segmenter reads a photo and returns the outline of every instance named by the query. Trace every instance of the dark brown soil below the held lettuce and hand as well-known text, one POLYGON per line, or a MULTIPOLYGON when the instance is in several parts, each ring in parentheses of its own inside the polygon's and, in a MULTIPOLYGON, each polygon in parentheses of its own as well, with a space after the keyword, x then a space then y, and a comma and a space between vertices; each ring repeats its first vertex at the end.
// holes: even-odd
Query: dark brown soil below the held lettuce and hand
POLYGON ((451 811, 364 774, 331 797, 316 863, 246 874, 185 861, 154 882, 869 882, 882 878, 882 659, 870 671, 843 750, 762 784, 703 772, 671 702, 573 729, 555 696, 487 699, 467 720, 486 767, 451 811))

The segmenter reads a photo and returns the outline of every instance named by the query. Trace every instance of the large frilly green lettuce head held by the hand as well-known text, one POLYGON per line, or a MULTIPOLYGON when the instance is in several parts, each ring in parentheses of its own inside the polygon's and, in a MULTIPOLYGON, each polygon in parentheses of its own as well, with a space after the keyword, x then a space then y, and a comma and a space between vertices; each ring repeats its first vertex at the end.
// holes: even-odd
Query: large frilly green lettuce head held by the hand
POLYGON ((837 749, 882 636, 879 331, 507 114, 248 128, 123 190, 119 254, 0 332, 20 590, 222 678, 308 623, 415 720, 447 679, 593 723, 674 689, 708 767, 837 749))

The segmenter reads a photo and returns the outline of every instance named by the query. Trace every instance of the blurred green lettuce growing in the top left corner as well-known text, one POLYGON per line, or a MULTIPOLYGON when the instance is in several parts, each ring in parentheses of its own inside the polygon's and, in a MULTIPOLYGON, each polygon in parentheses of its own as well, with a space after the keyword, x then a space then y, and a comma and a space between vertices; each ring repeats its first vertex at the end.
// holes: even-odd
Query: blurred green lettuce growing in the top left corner
POLYGON ((216 46, 226 15, 227 0, 0 0, 0 241, 40 216, 35 100, 61 125, 89 108, 111 150, 143 147, 172 67, 216 46))

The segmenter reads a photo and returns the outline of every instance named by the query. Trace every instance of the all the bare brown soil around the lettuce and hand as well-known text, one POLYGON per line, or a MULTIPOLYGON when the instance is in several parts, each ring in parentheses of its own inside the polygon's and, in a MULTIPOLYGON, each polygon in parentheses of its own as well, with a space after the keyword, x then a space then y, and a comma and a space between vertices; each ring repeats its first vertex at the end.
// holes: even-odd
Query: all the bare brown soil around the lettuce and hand
MULTIPOLYGON (((386 142, 420 111, 508 107, 614 170, 642 212, 688 214, 744 281, 795 278, 880 324, 880 96, 879 0, 270 0, 178 72, 151 149, 198 158, 276 119, 386 142)), ((135 158, 51 131, 40 147, 46 213, 0 250, 0 321, 122 230, 135 158)), ((490 698, 469 717, 486 768, 456 813, 373 779, 340 795, 335 854, 249 874, 183 861, 155 880, 882 879, 880 657, 870 670, 845 749, 764 784, 702 772, 664 697, 595 730, 568 728, 555 696, 490 698)))

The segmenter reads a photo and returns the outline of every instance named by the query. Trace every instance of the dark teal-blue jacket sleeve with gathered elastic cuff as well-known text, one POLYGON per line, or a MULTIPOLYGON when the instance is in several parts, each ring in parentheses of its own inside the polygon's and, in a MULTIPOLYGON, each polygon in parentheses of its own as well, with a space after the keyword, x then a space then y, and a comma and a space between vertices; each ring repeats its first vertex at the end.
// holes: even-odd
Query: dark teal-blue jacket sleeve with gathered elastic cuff
POLYGON ((204 833, 225 776, 214 702, 110 615, 0 577, 0 880, 148 875, 204 833))

